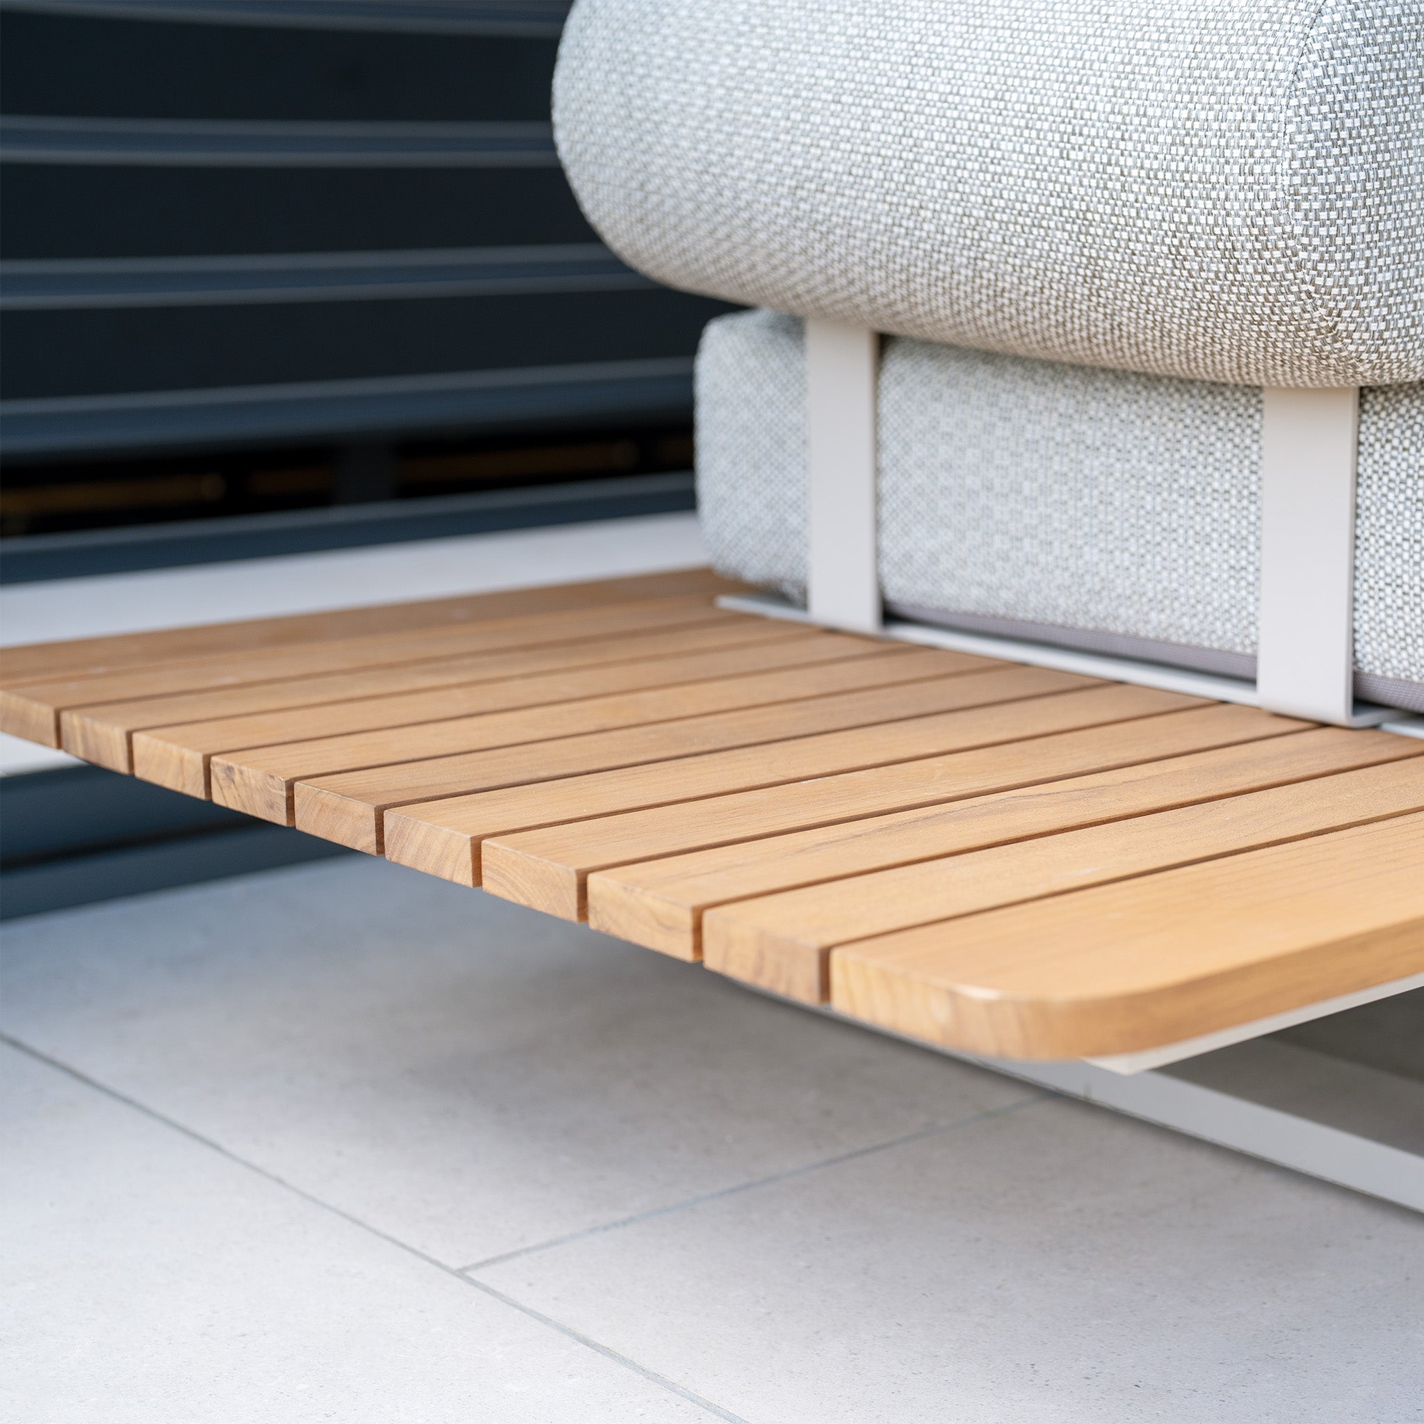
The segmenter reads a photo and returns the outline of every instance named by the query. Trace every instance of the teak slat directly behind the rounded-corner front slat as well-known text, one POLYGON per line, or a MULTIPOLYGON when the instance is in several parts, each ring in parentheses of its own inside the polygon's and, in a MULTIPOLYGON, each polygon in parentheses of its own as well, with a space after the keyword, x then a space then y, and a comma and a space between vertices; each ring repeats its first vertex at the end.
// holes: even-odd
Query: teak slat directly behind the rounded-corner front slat
MULTIPOLYGON (((1420 809, 1424 759, 1414 756, 968 850, 709 909, 703 961, 733 978, 823 1002, 830 951, 839 944, 1420 809)), ((971 836, 964 836, 965 844, 973 844, 971 836)))

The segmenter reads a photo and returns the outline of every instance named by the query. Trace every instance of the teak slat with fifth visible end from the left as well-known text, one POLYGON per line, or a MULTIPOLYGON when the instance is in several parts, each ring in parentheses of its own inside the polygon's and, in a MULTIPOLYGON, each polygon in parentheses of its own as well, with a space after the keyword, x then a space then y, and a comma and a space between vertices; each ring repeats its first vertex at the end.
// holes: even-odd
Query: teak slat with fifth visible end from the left
MULTIPOLYGON (((1045 696, 1092 684, 1091 678, 1045 668, 971 672, 901 686, 842 692, 768 708, 686 718, 681 722, 595 732, 524 748, 513 746, 370 772, 350 772, 343 776, 299 782, 295 787, 296 824, 326 840, 380 853, 382 816, 390 806, 695 756, 699 752, 733 746, 780 742, 816 732, 870 726, 917 713, 1045 696)), ((769 756, 779 758, 780 752, 769 756)), ((214 760, 215 800, 219 799, 222 765, 214 760)))

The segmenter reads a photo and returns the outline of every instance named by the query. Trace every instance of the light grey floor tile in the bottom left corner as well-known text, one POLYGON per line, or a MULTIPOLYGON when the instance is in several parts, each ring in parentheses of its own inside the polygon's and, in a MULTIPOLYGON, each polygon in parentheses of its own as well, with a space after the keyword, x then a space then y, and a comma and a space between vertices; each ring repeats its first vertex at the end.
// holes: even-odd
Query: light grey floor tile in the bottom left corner
POLYGON ((696 1420, 571 1333, 13 1048, 7 1420, 696 1420))

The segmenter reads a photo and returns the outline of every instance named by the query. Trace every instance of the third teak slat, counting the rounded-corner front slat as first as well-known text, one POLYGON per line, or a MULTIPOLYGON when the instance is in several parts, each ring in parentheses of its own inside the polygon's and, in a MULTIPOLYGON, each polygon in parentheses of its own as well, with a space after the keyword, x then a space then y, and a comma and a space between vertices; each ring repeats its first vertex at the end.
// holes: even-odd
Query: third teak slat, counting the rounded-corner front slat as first
MULTIPOLYGON (((742 812, 758 834, 592 874, 590 920, 648 948, 698 958, 702 913, 729 900, 1413 755, 1396 750, 1400 738, 1376 733, 1358 742, 1334 729, 1304 732, 1309 725, 1213 703, 853 772, 779 787, 765 797, 703 802, 699 817, 715 819, 725 806, 742 812), (1260 745, 1265 739, 1269 746, 1260 745), (897 799, 906 809, 887 810, 897 799), (850 815, 827 815, 815 829, 779 827, 778 819, 789 820, 799 803, 806 806, 807 826, 817 806, 850 815)), ((490 856, 491 847, 484 853, 490 856)))

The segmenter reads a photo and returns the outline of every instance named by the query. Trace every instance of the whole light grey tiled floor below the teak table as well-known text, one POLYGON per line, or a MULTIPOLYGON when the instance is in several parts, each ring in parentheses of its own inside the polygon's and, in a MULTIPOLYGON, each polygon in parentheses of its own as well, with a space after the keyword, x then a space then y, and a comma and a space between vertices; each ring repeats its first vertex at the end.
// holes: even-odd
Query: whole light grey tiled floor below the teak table
POLYGON ((1424 1220, 380 862, 7 927, 6 1417, 1424 1420, 1424 1220))

